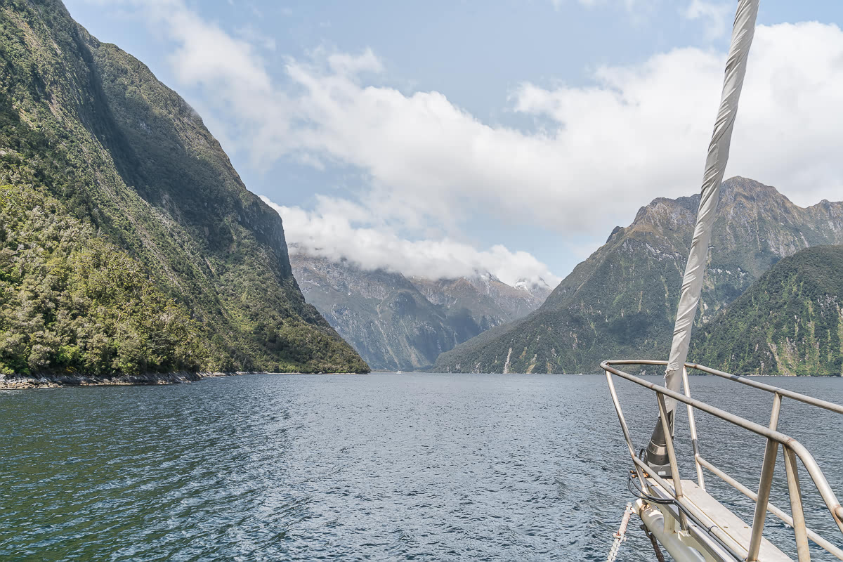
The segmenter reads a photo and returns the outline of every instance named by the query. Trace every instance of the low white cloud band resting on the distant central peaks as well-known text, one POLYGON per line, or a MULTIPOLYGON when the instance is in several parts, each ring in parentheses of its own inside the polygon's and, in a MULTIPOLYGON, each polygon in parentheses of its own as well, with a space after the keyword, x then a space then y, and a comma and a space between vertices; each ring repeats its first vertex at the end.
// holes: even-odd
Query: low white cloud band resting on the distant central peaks
POLYGON ((349 201, 319 197, 315 211, 280 206, 261 196, 278 211, 291 252, 303 250, 330 260, 346 258, 362 269, 398 271, 405 276, 432 279, 491 272, 509 285, 543 279, 556 286, 561 279, 527 252, 502 245, 477 250, 448 238, 408 240, 389 227, 365 226, 368 210, 349 201))

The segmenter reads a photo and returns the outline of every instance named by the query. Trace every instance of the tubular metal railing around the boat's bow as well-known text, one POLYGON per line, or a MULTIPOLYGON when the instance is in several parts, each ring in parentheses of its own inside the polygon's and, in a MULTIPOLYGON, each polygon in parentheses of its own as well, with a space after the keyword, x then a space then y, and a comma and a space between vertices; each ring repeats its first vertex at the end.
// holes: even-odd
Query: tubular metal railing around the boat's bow
POLYGON ((688 425, 690 429, 691 444, 694 452, 694 463, 696 468, 697 483, 699 484, 701 489, 706 489, 705 479, 703 478, 702 472, 702 469, 706 468, 708 471, 711 472, 711 474, 716 475, 718 478, 722 479, 727 484, 733 486, 735 490, 738 490, 740 493, 746 495, 747 497, 749 497, 750 500, 753 500, 755 503, 749 546, 744 547, 744 545, 736 543, 733 538, 729 537, 726 533, 722 533, 719 527, 708 528, 709 533, 711 533, 714 538, 716 538, 717 542, 728 545, 728 549, 732 551, 733 554, 739 553, 739 556, 737 556, 736 554, 736 557, 738 557, 739 559, 745 559, 748 562, 755 562, 756 560, 758 560, 760 552, 761 538, 764 533, 764 522, 766 512, 771 511, 771 513, 781 519, 782 522, 785 522, 788 526, 793 528, 794 535, 796 538, 797 555, 799 562, 806 562, 810 560, 810 553, 808 551, 808 539, 810 539, 813 543, 819 545, 819 547, 825 549, 830 554, 833 554, 838 559, 843 560, 843 549, 840 549, 839 547, 835 546, 835 544, 830 543, 825 538, 822 538, 818 533, 815 533, 813 530, 809 529, 805 525, 802 491, 800 489, 799 484, 799 474, 797 471, 796 459, 799 458, 799 460, 802 461, 803 466, 807 470, 808 475, 811 477, 813 484, 816 486, 819 495, 824 500, 825 506, 828 507, 831 517, 834 519, 837 527, 840 529, 840 533, 843 533, 843 507, 840 506, 840 501, 837 500, 837 497, 831 490, 831 487, 828 481, 825 479, 822 470, 820 470, 819 465, 813 459, 811 453, 808 452, 808 449, 803 447, 800 442, 797 442, 797 440, 792 438, 791 436, 787 436, 779 431, 776 431, 776 427, 778 426, 779 421, 779 414, 781 412, 781 400, 783 398, 797 400, 798 402, 802 402, 803 404, 827 409, 840 415, 843 415, 843 406, 827 402, 825 400, 815 399, 804 394, 795 393, 785 388, 777 388, 769 384, 760 383, 750 378, 739 377, 738 375, 733 375, 728 372, 717 371, 717 369, 711 369, 710 367, 696 365, 695 363, 685 363, 685 369, 683 369, 682 373, 684 393, 674 392, 672 390, 669 390, 668 388, 659 386, 658 384, 650 383, 640 377, 635 377, 629 374, 628 372, 623 372, 620 371, 620 369, 613 367, 624 365, 667 366, 667 364, 667 361, 648 360, 604 361, 600 363, 600 367, 602 367, 604 372, 606 373, 606 380, 609 383, 609 392, 612 396, 612 402, 613 404, 615 404, 615 411, 617 412, 618 420, 620 420, 620 428, 624 433, 624 437, 626 438, 626 444, 629 447, 632 462, 634 463, 633 466, 636 470, 639 482, 642 483, 642 486, 647 485, 647 479, 645 478, 645 474, 648 474, 649 478, 655 480, 659 484, 659 486, 661 486, 663 490, 668 493, 668 495, 672 496, 673 500, 675 500, 675 502, 680 508, 679 525, 683 529, 687 528, 685 512, 688 512, 693 515, 695 514, 695 512, 699 511, 693 504, 690 503, 690 501, 687 500, 687 498, 685 498, 685 495, 683 495, 682 493, 682 483, 679 479, 679 465, 676 462, 676 452, 674 450, 674 437, 669 431, 667 416, 665 415, 665 411, 667 409, 665 405, 665 398, 674 399, 677 402, 686 404, 688 408, 688 425), (745 384, 749 387, 758 388, 765 392, 772 393, 773 406, 771 409, 770 425, 761 426, 760 424, 754 423, 749 420, 745 420, 744 418, 738 415, 731 414, 725 410, 716 408, 714 406, 706 404, 705 402, 701 402, 700 400, 692 399, 690 397, 690 388, 688 385, 689 369, 705 372, 709 375, 714 375, 716 377, 726 378, 736 383, 745 384), (612 375, 624 378, 644 388, 649 388, 650 390, 656 393, 658 409, 659 413, 661 414, 664 434, 666 436, 667 441, 666 444, 668 450, 668 458, 670 461, 670 468, 673 476, 672 489, 665 479, 658 476, 658 474, 652 474, 647 464, 643 463, 643 461, 637 457, 636 447, 632 443, 629 427, 626 425, 623 410, 620 408, 620 402, 618 400, 618 395, 615 390, 615 383, 612 380, 612 375), (731 476, 726 474, 721 468, 717 468, 714 464, 707 461, 705 458, 702 458, 699 450, 699 444, 697 442, 696 423, 694 419, 695 409, 698 409, 702 412, 706 412, 706 414, 713 415, 721 420, 728 421, 729 423, 735 426, 742 427, 745 430, 752 431, 753 433, 766 438, 764 461, 761 465, 761 474, 757 493, 744 486, 744 484, 739 483, 738 480, 733 479, 731 476), (778 453, 778 447, 780 445, 784 456, 785 471, 787 473, 787 490, 790 496, 790 505, 792 513, 792 515, 790 516, 787 515, 785 511, 782 511, 780 508, 772 505, 769 501, 770 490, 773 480, 773 472, 774 468, 776 467, 776 457, 778 453), (746 553, 745 558, 743 555, 744 552, 746 553))

